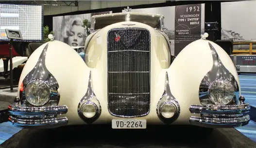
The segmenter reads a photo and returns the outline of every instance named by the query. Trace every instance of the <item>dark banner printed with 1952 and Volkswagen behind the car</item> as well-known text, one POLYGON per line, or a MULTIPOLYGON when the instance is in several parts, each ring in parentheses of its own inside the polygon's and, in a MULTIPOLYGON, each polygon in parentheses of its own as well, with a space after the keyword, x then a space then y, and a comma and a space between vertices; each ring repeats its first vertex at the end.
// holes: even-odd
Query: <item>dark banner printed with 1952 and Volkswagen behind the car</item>
POLYGON ((202 4, 175 6, 174 55, 201 38, 202 4))

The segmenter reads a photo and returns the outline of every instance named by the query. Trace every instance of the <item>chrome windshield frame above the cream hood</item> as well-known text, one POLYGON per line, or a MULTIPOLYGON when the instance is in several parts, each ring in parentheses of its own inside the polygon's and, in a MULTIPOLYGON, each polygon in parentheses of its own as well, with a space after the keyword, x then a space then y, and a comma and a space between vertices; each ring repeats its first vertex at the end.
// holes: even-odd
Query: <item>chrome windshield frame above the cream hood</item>
MULTIPOLYGON (((119 14, 115 14, 115 15, 126 15, 125 17, 127 17, 128 13, 119 13, 119 14)), ((129 13, 129 14, 130 15, 151 15, 151 16, 153 15, 153 14, 140 14, 140 13, 129 13)), ((114 14, 107 14, 107 16, 108 15, 114 15, 114 14)), ((159 19, 160 19, 160 29, 157 29, 157 28, 154 28, 154 29, 155 30, 163 31, 163 28, 164 28, 164 16, 163 15, 156 15, 156 16, 159 17, 159 19)), ((92 32, 101 30, 101 29, 94 30, 97 17, 105 17, 105 16, 96 16, 96 17, 92 16, 91 17, 91 30, 92 30, 92 32)))

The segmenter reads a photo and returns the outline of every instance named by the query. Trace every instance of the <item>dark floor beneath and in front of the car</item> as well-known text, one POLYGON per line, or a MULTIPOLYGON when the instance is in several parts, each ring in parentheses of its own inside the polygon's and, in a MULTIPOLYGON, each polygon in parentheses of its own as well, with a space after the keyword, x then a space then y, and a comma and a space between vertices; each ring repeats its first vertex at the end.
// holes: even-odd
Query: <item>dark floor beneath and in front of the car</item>
POLYGON ((75 126, 21 130, 0 148, 256 148, 256 143, 232 128, 208 133, 192 126, 148 127, 147 130, 75 126))

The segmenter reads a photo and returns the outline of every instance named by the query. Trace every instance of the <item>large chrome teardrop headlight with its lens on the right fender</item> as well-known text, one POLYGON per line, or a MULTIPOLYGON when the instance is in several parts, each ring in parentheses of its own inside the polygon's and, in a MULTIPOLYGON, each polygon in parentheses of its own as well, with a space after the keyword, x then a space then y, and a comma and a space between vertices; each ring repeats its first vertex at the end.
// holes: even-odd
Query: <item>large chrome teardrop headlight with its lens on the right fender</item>
POLYGON ((239 84, 235 76, 222 64, 217 51, 208 43, 212 53, 212 68, 205 74, 199 86, 202 105, 239 104, 239 84))

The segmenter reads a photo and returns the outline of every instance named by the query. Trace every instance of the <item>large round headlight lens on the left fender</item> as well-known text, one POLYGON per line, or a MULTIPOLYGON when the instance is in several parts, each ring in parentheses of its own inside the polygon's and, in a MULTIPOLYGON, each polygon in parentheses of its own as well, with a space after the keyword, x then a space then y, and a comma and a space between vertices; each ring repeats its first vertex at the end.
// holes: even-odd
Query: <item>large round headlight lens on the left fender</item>
POLYGON ((25 88, 26 100, 34 106, 43 106, 50 99, 51 89, 42 80, 32 80, 25 88))

